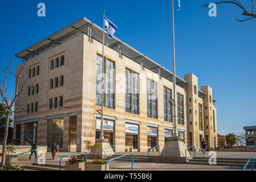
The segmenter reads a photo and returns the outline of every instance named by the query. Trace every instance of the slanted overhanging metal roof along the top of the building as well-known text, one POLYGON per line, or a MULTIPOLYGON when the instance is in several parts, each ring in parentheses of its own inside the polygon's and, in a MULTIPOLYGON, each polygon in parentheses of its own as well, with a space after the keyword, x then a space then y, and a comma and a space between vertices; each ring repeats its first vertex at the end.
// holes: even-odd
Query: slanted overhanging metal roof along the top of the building
MULTIPOLYGON (((17 53, 15 56, 20 57, 21 59, 29 60, 30 57, 38 56, 40 52, 44 51, 47 48, 50 48, 51 46, 59 46, 69 36, 74 35, 78 32, 82 32, 86 35, 90 34, 90 36, 93 39, 102 43, 103 42, 102 31, 103 31, 103 28, 92 23, 87 18, 81 18, 76 22, 70 24, 69 26, 63 28, 62 30, 56 32, 55 34, 52 34, 47 38, 41 40, 40 42, 17 53)), ((107 36, 107 32, 106 31, 104 32, 105 32, 105 36, 107 36)), ((137 51, 136 49, 124 43, 123 41, 116 38, 115 36, 113 36, 112 39, 108 40, 108 43, 106 46, 114 50, 116 46, 121 46, 122 55, 128 57, 129 59, 139 64, 141 64, 141 60, 143 59, 143 66, 145 68, 148 68, 149 70, 160 74, 161 77, 164 77, 169 81, 173 81, 172 72, 168 71, 168 69, 162 67, 160 64, 157 64, 155 61, 151 60, 149 57, 145 56, 143 53, 137 51)), ((185 85, 186 81, 176 76, 176 84, 185 85)))

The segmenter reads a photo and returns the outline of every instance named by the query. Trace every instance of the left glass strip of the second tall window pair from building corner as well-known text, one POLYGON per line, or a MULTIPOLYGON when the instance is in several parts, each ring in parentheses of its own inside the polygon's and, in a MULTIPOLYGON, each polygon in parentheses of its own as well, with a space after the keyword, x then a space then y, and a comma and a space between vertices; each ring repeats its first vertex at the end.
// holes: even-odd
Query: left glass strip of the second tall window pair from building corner
POLYGON ((132 113, 132 79, 131 79, 131 71, 129 69, 125 69, 125 81, 126 81, 126 89, 125 89, 125 111, 127 113, 132 113))

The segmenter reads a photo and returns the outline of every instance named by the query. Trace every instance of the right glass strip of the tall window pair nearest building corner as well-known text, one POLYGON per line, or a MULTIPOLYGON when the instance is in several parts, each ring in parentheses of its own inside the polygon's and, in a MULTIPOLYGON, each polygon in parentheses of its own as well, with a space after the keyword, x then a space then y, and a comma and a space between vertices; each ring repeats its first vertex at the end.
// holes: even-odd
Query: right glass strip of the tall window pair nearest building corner
POLYGON ((107 60, 107 107, 115 109, 115 66, 107 60))

